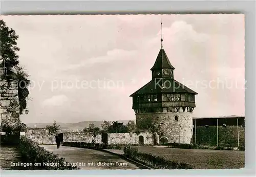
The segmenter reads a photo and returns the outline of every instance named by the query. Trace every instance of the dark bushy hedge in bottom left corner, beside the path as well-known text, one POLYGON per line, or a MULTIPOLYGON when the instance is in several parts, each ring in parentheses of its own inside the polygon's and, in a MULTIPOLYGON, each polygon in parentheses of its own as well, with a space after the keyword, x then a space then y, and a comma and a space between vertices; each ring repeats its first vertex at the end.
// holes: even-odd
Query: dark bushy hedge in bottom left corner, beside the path
POLYGON ((30 163, 27 168, 30 170, 73 170, 79 169, 73 166, 72 163, 67 163, 64 158, 59 158, 58 155, 53 154, 40 147, 36 142, 21 137, 18 145, 18 151, 21 155, 23 163, 30 163))

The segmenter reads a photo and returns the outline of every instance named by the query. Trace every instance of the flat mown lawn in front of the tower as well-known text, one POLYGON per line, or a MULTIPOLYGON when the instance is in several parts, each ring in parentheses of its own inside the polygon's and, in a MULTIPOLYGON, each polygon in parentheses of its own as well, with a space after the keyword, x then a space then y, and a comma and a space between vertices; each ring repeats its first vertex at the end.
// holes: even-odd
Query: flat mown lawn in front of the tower
POLYGON ((138 151, 179 163, 187 163, 194 169, 232 169, 244 168, 245 165, 244 151, 164 147, 138 147, 138 151))

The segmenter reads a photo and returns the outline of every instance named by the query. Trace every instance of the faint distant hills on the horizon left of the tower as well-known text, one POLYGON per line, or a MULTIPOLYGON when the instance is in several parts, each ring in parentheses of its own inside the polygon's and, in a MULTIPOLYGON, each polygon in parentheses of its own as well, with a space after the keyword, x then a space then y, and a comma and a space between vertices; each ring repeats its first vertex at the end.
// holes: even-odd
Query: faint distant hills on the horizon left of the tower
MULTIPOLYGON (((118 120, 118 122, 123 122, 124 124, 127 124, 129 120, 118 120)), ((135 121, 135 120, 134 120, 135 121)), ((90 124, 94 124, 97 127, 100 127, 100 125, 103 123, 103 121, 82 121, 77 123, 61 123, 57 122, 57 125, 60 125, 61 129, 83 129, 84 127, 89 127, 90 124)), ((50 123, 26 123, 26 125, 29 128, 34 128, 36 125, 36 128, 45 128, 47 125, 52 125, 53 122, 50 123)))

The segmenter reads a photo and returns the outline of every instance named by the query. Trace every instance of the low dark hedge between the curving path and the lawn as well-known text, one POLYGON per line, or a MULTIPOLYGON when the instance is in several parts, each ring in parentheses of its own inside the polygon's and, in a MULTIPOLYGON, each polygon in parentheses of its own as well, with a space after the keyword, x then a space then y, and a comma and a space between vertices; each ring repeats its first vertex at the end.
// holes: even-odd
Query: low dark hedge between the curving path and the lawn
POLYGON ((136 147, 131 146, 124 148, 124 156, 155 169, 193 169, 193 166, 190 164, 170 161, 153 154, 142 153, 136 147))

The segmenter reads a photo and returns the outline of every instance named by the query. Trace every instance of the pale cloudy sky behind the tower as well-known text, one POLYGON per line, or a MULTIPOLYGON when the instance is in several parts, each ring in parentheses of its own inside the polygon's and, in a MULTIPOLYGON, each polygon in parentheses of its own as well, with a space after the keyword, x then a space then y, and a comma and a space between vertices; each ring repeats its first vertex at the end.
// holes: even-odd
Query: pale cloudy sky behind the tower
POLYGON ((244 115, 244 16, 2 16, 30 75, 25 123, 135 119, 132 93, 163 47, 198 93, 194 117, 244 115))

